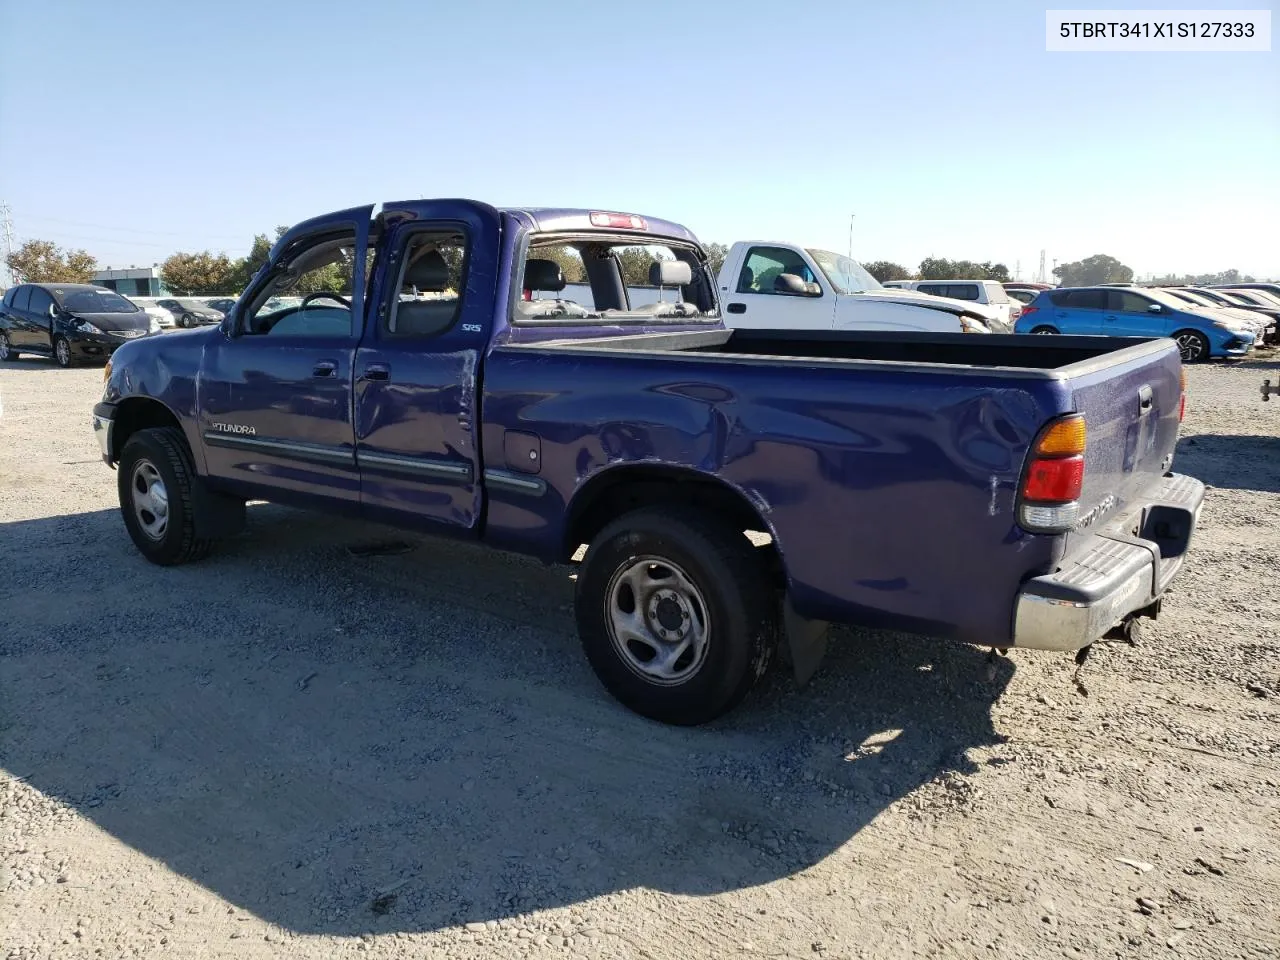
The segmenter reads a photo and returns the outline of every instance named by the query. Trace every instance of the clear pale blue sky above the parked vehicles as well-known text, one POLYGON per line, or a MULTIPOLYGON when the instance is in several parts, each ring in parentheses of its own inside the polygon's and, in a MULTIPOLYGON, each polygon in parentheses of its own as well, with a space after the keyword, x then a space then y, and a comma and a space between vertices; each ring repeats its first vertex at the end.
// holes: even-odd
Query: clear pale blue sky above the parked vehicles
POLYGON ((1050 54, 1044 9, 0 0, 0 200, 116 268, 468 196, 841 252, 852 212, 856 257, 908 266, 1280 276, 1280 45, 1050 54))

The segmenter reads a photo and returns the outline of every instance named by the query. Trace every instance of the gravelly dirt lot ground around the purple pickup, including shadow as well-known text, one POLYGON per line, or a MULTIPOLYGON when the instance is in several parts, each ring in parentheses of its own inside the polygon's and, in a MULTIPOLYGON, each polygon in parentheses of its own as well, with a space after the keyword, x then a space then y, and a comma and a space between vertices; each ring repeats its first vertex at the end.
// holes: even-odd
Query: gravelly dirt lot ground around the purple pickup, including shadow
POLYGON ((97 370, 0 369, 0 947, 22 957, 1275 957, 1280 364, 1137 648, 840 631, 710 727, 617 707, 570 571, 270 506, 129 544, 97 370))

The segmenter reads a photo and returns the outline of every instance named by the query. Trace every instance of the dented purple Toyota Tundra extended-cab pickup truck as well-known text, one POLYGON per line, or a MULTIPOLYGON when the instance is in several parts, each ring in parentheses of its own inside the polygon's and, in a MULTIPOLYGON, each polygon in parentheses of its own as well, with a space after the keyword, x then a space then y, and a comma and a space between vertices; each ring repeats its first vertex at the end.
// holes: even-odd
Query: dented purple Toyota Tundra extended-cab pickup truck
POLYGON ((678 224, 434 200, 291 229, 219 326, 116 351, 93 429, 160 564, 251 499, 585 545, 593 668, 692 724, 829 622, 1074 652, 1155 616, 1183 404, 1169 339, 728 330, 678 224))

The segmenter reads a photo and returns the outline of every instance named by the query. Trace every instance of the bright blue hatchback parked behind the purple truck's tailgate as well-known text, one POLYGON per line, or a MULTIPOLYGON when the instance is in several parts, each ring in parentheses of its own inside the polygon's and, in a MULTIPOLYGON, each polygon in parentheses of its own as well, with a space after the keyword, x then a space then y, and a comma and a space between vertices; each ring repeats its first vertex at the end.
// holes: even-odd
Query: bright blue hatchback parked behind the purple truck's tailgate
POLYGON ((1233 317, 1202 314, 1161 291, 1135 287, 1060 287, 1023 307, 1014 333, 1171 337, 1184 364, 1243 357, 1254 332, 1233 317))

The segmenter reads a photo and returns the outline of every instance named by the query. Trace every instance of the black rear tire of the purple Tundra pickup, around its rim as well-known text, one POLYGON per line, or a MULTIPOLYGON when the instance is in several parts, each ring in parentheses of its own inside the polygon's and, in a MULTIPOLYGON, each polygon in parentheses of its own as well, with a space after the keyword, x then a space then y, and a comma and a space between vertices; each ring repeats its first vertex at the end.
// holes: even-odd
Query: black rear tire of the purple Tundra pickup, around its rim
MULTIPOLYGON (((675 607, 678 626, 671 630, 677 632, 680 617, 685 623, 690 617, 678 612, 681 603, 662 608, 671 603, 659 596, 667 593, 654 589, 649 605, 664 614, 675 607)), ((640 613, 637 596, 631 605, 640 613)), ((630 709, 664 723, 694 726, 731 710, 764 676, 778 644, 778 596, 759 550, 731 525, 687 507, 637 509, 604 527, 579 570, 576 608, 579 636, 600 682, 630 709), (625 573, 637 568, 650 571, 646 576, 658 571, 658 577, 673 568, 695 589, 689 609, 698 622, 701 605, 707 640, 682 678, 659 682, 644 676, 644 667, 632 666, 637 659, 622 649, 634 652, 635 645, 614 643, 614 604, 626 594, 625 573)), ((657 614, 637 620, 654 630, 666 623, 657 614)))

